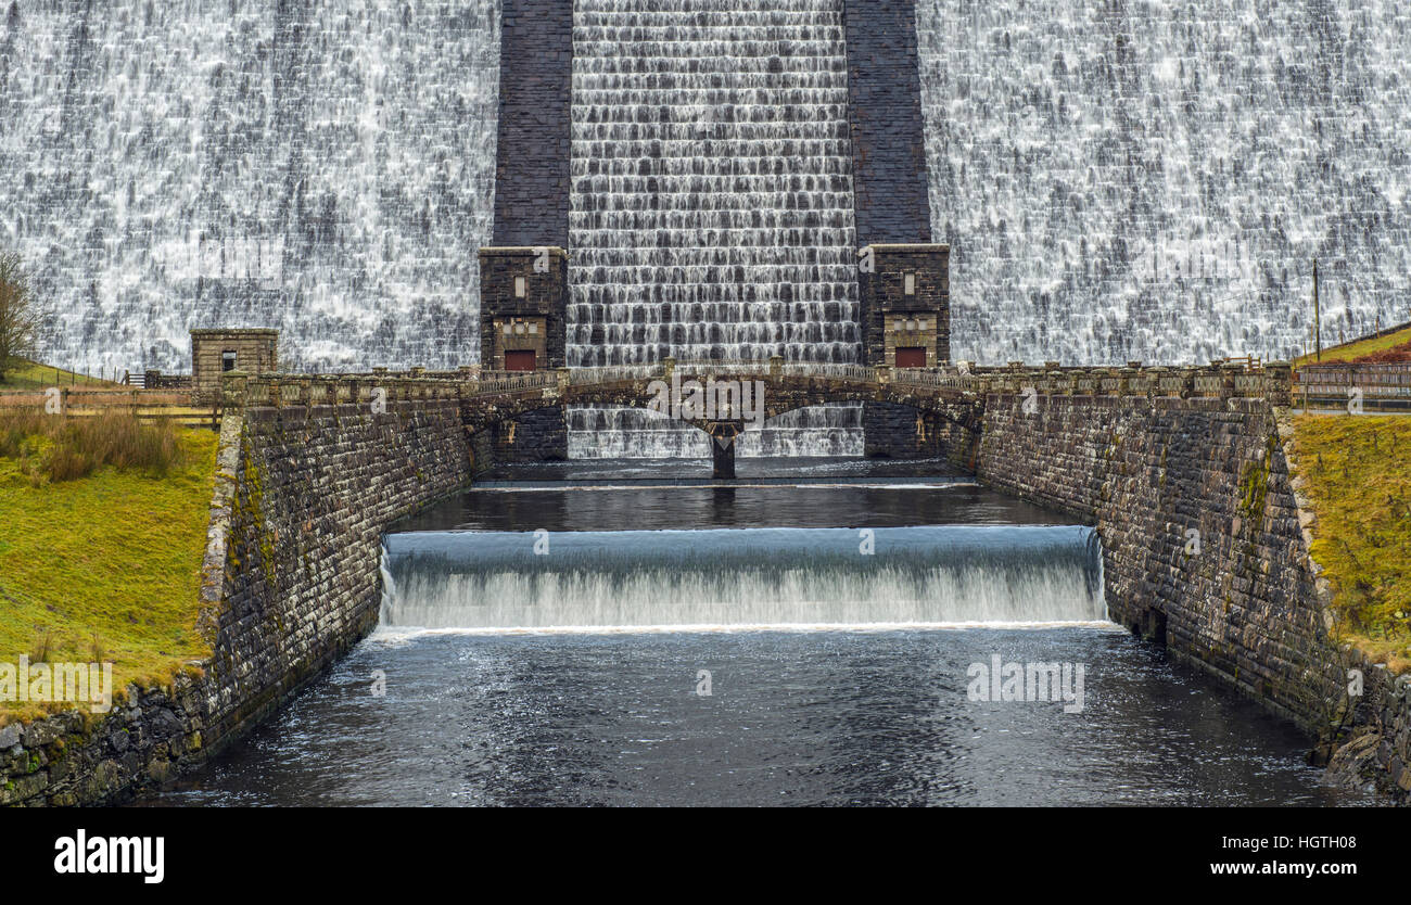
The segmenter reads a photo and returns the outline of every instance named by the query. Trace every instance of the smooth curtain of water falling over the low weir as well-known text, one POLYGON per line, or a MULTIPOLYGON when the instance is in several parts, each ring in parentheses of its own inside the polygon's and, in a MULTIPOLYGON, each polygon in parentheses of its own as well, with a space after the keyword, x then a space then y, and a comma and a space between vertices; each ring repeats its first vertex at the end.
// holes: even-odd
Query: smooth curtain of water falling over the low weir
POLYGON ((387 629, 1106 619, 1086 527, 425 531, 387 538, 387 629), (536 553, 536 550, 539 553, 536 553))

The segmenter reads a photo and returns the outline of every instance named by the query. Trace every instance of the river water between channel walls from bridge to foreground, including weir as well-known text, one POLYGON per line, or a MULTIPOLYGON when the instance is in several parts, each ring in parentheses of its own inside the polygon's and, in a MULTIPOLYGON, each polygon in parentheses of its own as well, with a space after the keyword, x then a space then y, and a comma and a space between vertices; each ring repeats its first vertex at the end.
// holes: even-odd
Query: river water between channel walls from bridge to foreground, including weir
POLYGON ((937 462, 749 468, 539 467, 422 513, 380 629, 143 804, 1366 802, 1106 622, 1089 529, 937 462))

